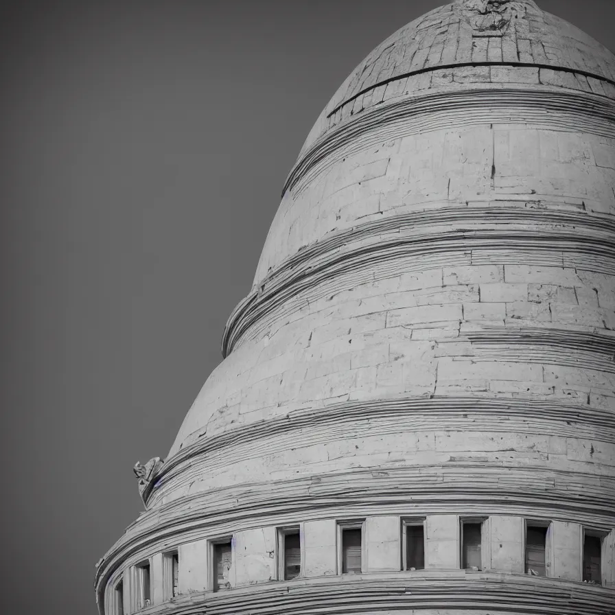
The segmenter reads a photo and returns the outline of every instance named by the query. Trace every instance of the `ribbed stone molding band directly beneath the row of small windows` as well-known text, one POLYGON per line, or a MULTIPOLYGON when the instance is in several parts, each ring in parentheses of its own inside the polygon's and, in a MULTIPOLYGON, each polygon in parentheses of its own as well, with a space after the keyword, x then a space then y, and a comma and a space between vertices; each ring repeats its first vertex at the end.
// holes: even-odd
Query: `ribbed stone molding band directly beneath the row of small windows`
POLYGON ((450 571, 320 577, 313 581, 181 596, 148 614, 333 615, 438 610, 485 615, 613 615, 615 591, 587 583, 498 572, 450 571))

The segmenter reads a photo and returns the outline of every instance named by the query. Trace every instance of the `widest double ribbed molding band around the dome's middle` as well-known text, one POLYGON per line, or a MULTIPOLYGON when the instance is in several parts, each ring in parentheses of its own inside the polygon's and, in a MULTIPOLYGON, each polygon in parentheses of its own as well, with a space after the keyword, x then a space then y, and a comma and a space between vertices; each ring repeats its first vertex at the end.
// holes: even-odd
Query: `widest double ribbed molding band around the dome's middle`
MULTIPOLYGON (((476 208, 478 211, 474 209, 469 213, 457 213, 456 226, 461 226, 463 222, 478 223, 478 216, 481 213, 484 215, 485 211, 483 208, 476 208)), ((340 236, 335 237, 335 241, 332 238, 327 242, 327 251, 323 251, 320 246, 313 251, 306 248, 300 253, 300 257, 292 259, 294 266, 285 263, 263 281, 257 291, 249 294, 237 305, 222 336, 223 356, 229 356, 233 347, 248 336, 249 330, 259 324, 259 321, 264 319, 259 327, 263 329, 273 321, 281 320, 282 314, 275 310, 287 301, 301 305, 298 300, 301 292, 343 275, 347 277, 347 284, 351 285, 349 288, 353 288, 360 283, 358 274, 362 269, 373 268, 375 265, 384 268, 385 263, 399 267, 399 273, 405 272, 400 267, 403 257, 433 259, 434 266, 437 266, 437 257, 449 254, 452 255, 450 265, 454 265, 457 253, 485 251, 492 253, 490 264, 498 264, 498 255, 502 251, 514 251, 515 264, 531 262, 561 267, 562 259, 566 255, 574 255, 574 267, 591 267, 594 271, 615 274, 615 232, 610 222, 604 221, 599 230, 594 224, 601 220, 592 220, 589 216, 568 214, 559 217, 556 222, 558 216, 554 213, 543 216, 542 212, 532 211, 533 227, 529 227, 530 218, 526 215, 529 212, 511 214, 510 210, 492 209, 488 212, 489 218, 483 228, 478 226, 449 231, 433 227, 425 229, 421 224, 423 220, 441 222, 448 216, 443 215, 440 218, 437 213, 432 213, 431 216, 428 213, 423 216, 399 216, 383 220, 380 227, 367 223, 351 231, 339 233, 340 236), (418 224, 412 224, 410 220, 417 221, 418 224), (576 224, 573 224, 573 221, 576 224), (589 223, 585 224, 588 221, 589 223), (498 224, 502 225, 502 228, 497 228, 498 224), (524 224, 528 227, 523 228, 524 224), (425 230, 421 232, 421 229, 425 230), (527 255, 527 258, 522 259, 522 255, 527 255), (586 264, 582 262, 583 257, 587 259, 586 264), (548 261, 549 258, 552 262, 548 261)), ((454 220, 454 214, 448 219, 454 220)), ((508 259, 502 264, 510 262, 508 259)), ((423 262, 421 268, 429 267, 423 262)), ((371 272, 369 279, 373 279, 371 272)), ((330 290, 327 290, 324 294, 329 292, 330 290)), ((310 297, 312 301, 315 298, 310 297)))

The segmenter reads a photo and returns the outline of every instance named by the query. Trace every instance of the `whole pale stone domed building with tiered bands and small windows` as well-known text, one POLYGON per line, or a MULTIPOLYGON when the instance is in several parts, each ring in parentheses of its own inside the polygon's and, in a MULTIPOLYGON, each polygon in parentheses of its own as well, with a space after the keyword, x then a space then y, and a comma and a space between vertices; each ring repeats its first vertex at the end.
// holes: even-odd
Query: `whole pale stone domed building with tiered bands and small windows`
POLYGON ((615 613, 615 56, 456 0, 358 65, 101 615, 615 613))

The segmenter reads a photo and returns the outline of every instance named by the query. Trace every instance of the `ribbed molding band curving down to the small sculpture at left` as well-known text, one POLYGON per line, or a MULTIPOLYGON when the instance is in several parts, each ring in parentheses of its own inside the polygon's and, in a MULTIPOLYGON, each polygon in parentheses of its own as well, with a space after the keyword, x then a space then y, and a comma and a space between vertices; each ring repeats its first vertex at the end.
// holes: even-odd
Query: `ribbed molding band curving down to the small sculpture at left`
MULTIPOLYGON (((566 334, 572 338, 572 343, 579 346, 583 345, 583 340, 588 346, 598 343, 591 339, 593 336, 583 334, 575 336, 566 331, 558 332, 557 336, 564 340, 566 334)), ((480 332, 476 335, 479 339, 484 338, 480 332)), ((531 332, 524 330, 522 335, 531 336, 531 332)), ((539 335, 540 332, 537 332, 537 336, 539 335)), ((614 340, 610 338, 605 340, 607 347, 611 347, 613 343, 614 340)), ((517 424, 510 427, 515 432, 521 430, 544 434, 545 426, 548 425, 548 432, 552 435, 597 439, 597 433, 600 441, 615 442, 614 410, 564 404, 561 401, 473 395, 472 397, 434 396, 429 399, 397 397, 343 402, 330 404, 325 408, 294 410, 279 418, 251 423, 210 437, 204 433, 194 444, 182 448, 163 465, 161 472, 143 492, 143 497, 149 502, 152 491, 163 487, 168 480, 174 480, 176 476, 184 474, 187 467, 202 456, 211 456, 229 448, 245 447, 254 450, 257 443, 267 437, 292 437, 293 434, 315 426, 325 431, 335 426, 342 426, 343 430, 348 430, 360 421, 390 420, 394 424, 399 424, 402 419, 408 422, 408 426, 417 430, 434 429, 437 421, 441 419, 439 427, 441 430, 459 428, 462 431, 469 427, 477 428, 477 423, 481 427, 489 423, 491 426, 497 426, 498 430, 506 431, 511 421, 517 421, 517 424), (426 422, 427 417, 430 420, 426 422), (502 420, 504 417, 507 420, 502 420), (475 422, 469 424, 468 421, 475 422), (524 423, 525 427, 520 428, 519 423, 524 423)))

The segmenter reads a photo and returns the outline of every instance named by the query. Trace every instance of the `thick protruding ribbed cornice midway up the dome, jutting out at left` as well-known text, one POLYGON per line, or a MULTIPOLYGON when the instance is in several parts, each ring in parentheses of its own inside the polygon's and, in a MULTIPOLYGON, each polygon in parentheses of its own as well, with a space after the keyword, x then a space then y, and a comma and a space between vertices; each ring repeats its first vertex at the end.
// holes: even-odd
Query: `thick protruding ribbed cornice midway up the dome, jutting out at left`
MULTIPOLYGON (((601 272, 615 273, 614 237, 612 220, 545 209, 443 207, 360 224, 306 247, 270 272, 229 317, 222 335, 222 355, 226 358, 260 318, 297 293, 373 262, 508 248, 531 255, 539 264, 546 264, 540 262, 540 255, 557 253, 558 266, 562 254, 585 255, 601 272), (451 224, 458 228, 434 229, 451 224), (612 265, 607 267, 605 262, 612 265)), ((497 254, 493 262, 495 259, 497 254)))

